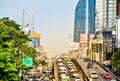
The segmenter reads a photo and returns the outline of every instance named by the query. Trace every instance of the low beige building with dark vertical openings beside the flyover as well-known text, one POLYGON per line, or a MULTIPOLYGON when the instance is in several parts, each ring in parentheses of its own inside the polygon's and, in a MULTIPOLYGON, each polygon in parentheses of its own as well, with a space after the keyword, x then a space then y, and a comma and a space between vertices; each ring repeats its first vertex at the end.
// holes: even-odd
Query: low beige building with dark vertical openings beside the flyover
POLYGON ((103 39, 90 39, 88 57, 98 62, 103 61, 103 39))

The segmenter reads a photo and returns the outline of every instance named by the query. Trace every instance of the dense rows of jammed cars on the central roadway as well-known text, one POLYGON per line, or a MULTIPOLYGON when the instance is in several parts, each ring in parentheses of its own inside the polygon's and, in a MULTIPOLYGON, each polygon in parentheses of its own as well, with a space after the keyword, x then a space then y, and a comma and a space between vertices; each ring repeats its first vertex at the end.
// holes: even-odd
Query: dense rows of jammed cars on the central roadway
POLYGON ((67 57, 56 59, 59 81, 81 81, 79 71, 67 57))

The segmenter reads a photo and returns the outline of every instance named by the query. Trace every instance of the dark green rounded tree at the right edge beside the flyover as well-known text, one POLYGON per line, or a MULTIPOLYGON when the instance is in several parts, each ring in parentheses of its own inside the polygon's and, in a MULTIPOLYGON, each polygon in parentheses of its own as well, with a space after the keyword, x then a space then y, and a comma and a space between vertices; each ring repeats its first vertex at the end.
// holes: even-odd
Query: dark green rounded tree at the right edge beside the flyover
POLYGON ((120 49, 116 50, 113 53, 113 55, 111 57, 111 63, 116 70, 120 71, 120 49))

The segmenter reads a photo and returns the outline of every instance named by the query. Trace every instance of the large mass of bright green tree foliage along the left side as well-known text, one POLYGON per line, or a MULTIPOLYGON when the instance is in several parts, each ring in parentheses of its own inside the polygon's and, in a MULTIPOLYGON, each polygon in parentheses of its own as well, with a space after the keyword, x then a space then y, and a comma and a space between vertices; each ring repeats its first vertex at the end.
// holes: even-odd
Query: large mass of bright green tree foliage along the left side
POLYGON ((3 81, 18 81, 18 72, 26 67, 22 58, 36 57, 35 49, 27 45, 30 39, 19 26, 8 17, 0 19, 0 80, 3 81))

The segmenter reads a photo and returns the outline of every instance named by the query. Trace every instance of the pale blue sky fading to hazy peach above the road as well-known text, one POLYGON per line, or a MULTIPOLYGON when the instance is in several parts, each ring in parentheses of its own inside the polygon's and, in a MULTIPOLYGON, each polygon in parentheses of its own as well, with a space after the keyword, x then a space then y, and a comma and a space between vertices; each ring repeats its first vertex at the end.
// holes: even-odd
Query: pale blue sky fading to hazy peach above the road
POLYGON ((32 14, 35 32, 41 34, 40 45, 51 54, 70 50, 73 42, 75 8, 79 0, 0 0, 0 18, 9 17, 22 24, 32 14))

